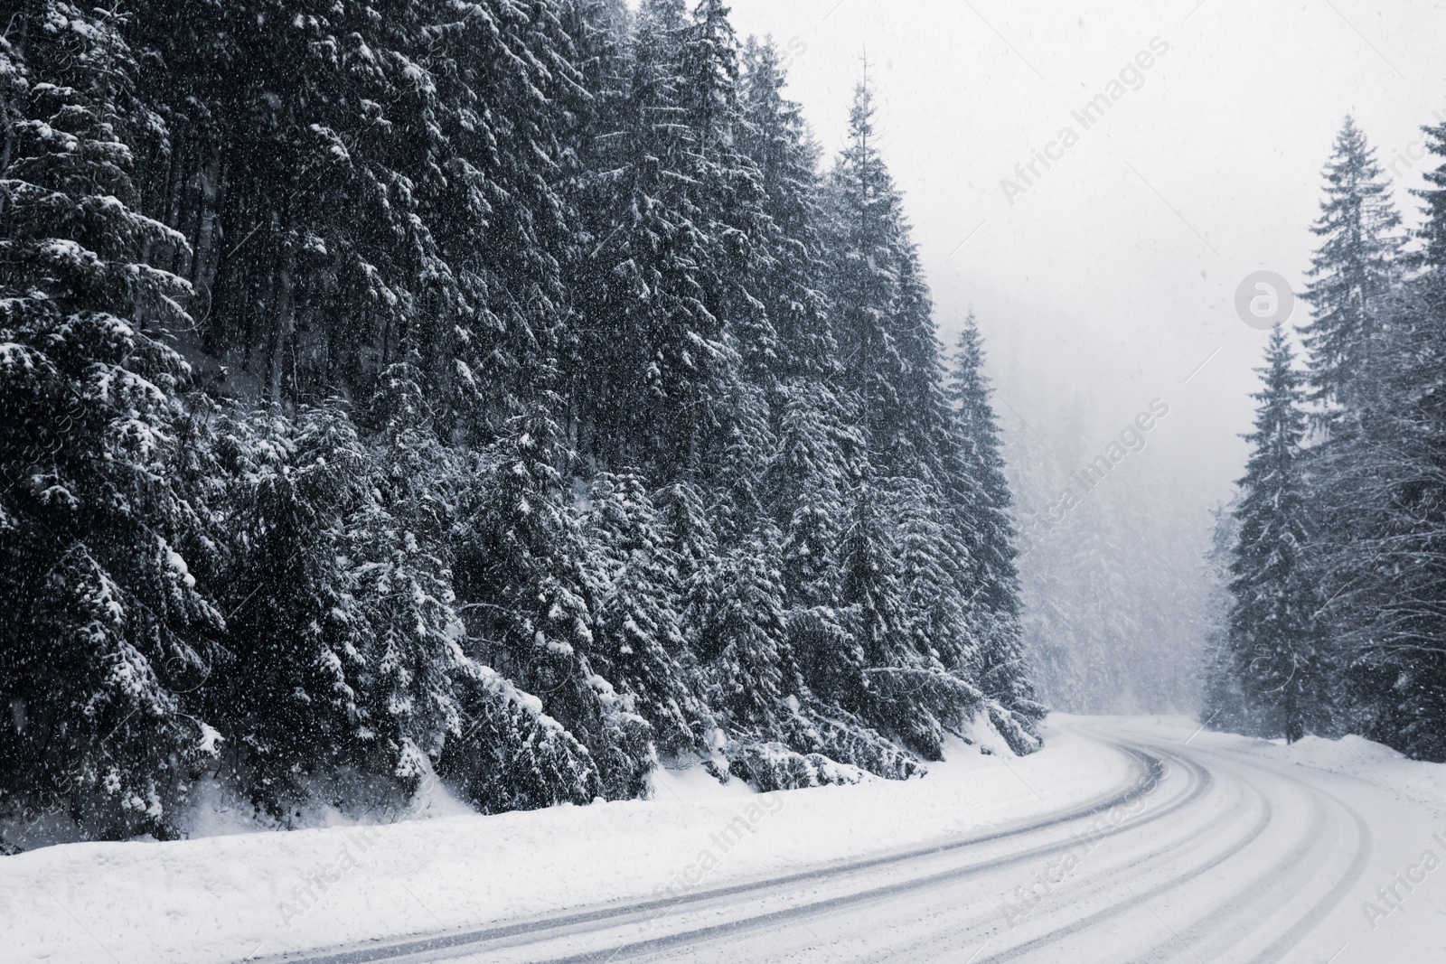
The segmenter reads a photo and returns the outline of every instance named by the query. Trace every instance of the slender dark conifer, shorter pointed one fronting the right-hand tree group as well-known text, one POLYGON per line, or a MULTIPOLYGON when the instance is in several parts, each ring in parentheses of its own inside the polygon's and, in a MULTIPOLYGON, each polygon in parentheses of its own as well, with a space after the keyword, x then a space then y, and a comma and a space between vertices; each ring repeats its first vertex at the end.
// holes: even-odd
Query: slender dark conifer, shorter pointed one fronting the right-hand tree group
POLYGON ((1301 438, 1301 376, 1285 332, 1271 334, 1252 451, 1239 484, 1239 538, 1231 564, 1229 645, 1242 688, 1270 720, 1270 736, 1294 741, 1323 726, 1322 658, 1304 578, 1310 545, 1301 438))

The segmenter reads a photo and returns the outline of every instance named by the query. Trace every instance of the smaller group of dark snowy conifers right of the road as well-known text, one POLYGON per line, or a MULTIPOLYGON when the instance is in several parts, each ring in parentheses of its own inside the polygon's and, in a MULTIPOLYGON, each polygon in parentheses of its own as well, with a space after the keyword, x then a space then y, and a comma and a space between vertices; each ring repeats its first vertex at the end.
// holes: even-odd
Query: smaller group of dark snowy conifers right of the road
POLYGON ((1202 720, 1288 741, 1362 734, 1440 763, 1446 124, 1423 133, 1437 166, 1413 191, 1416 231, 1352 117, 1325 165, 1310 319, 1270 338, 1249 461, 1219 520, 1229 595, 1202 720))

